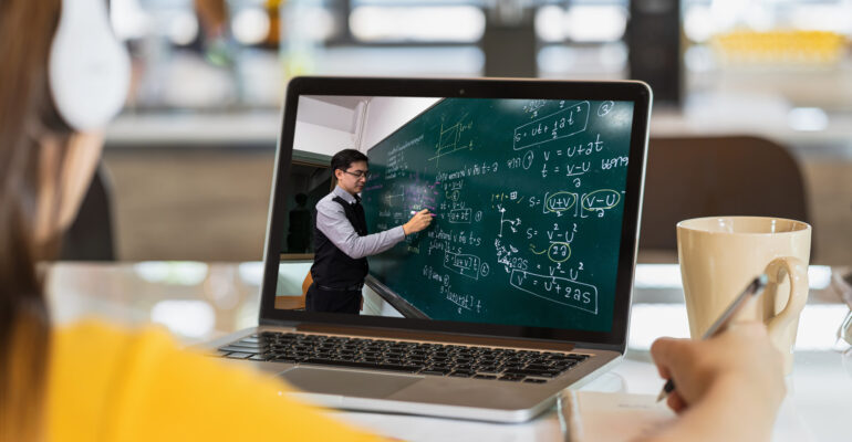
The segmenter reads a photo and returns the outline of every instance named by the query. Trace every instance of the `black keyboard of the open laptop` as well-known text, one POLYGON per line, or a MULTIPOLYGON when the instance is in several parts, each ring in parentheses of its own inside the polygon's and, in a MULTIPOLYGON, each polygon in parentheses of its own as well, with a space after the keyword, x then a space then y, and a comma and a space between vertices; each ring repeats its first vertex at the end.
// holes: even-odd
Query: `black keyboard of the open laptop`
POLYGON ((589 355, 263 332, 219 347, 232 359, 542 383, 589 355))

